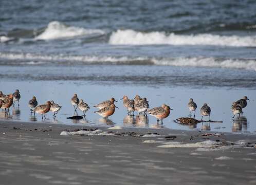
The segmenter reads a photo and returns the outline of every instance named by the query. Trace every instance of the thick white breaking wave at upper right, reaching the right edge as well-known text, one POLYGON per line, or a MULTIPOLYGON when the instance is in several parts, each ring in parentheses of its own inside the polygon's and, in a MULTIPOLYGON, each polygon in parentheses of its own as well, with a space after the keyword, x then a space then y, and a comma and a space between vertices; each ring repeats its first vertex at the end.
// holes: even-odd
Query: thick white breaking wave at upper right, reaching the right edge
POLYGON ((256 46, 256 36, 222 36, 216 34, 178 35, 166 32, 139 32, 117 30, 109 38, 109 44, 117 45, 213 45, 213 46, 256 46))

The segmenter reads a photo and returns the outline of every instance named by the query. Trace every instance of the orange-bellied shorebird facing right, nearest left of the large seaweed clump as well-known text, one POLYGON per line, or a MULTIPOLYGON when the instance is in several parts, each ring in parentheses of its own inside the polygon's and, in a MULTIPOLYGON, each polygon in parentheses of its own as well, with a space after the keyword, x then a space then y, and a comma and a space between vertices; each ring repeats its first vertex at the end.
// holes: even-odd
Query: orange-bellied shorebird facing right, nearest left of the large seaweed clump
POLYGON ((160 107, 155 107, 155 108, 148 110, 148 113, 151 116, 156 117, 157 123, 159 122, 159 119, 161 120, 161 123, 163 123, 162 119, 167 118, 170 115, 170 110, 172 110, 170 108, 170 106, 163 104, 160 107))

